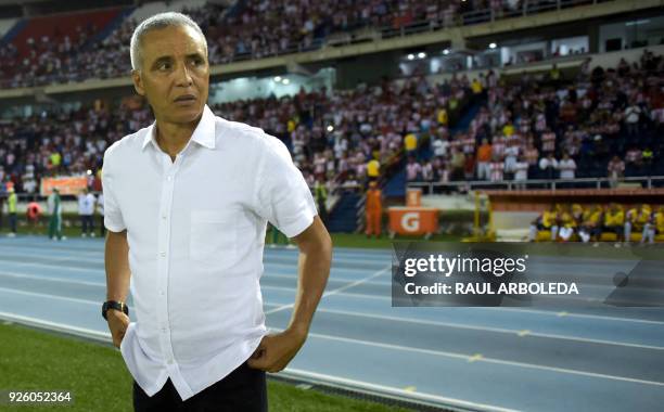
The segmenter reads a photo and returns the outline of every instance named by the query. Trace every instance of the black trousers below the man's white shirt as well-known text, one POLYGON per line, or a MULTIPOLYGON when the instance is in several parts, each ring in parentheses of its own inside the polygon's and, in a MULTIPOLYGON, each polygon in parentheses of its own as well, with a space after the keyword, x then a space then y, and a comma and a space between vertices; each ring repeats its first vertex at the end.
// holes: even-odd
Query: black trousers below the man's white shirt
POLYGON ((158 392, 149 397, 133 382, 133 410, 137 412, 267 412, 265 372, 246 362, 228 376, 182 401, 170 379, 158 392))

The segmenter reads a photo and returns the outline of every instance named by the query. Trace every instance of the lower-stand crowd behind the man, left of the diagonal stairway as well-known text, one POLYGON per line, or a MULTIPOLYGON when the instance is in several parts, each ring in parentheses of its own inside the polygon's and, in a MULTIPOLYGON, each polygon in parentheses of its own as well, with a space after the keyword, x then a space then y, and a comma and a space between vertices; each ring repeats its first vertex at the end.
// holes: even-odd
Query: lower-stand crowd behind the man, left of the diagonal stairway
MULTIPOLYGON (((378 173, 398 158, 404 140, 449 133, 448 123, 469 99, 465 76, 436 86, 414 77, 350 91, 301 90, 293 96, 212 108, 277 136, 311 186, 319 179, 331 188, 355 185, 378 173)), ((0 126, 0 182, 12 181, 18 193, 36 193, 42 177, 88 175, 97 191, 105 147, 151 121, 151 112, 138 98, 125 99, 113 110, 97 103, 15 118, 0 126)))

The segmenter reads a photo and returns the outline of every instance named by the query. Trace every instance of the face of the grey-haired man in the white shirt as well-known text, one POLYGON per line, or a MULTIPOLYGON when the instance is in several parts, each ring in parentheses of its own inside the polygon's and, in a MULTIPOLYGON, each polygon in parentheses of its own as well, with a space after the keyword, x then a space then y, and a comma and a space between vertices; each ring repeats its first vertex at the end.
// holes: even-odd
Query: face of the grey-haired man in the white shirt
POLYGON ((145 96, 157 119, 187 124, 203 113, 209 65, 203 38, 191 27, 171 26, 146 33, 142 68, 132 74, 136 91, 145 96))

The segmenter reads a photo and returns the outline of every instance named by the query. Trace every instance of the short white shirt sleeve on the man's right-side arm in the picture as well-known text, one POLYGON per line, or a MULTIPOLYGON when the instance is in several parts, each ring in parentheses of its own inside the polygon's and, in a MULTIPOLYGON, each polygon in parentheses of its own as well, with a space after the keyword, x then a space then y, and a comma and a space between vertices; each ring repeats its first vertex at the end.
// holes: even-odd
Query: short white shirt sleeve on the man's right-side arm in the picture
POLYGON ((289 237, 302 233, 317 215, 311 191, 291 158, 286 146, 266 136, 258 166, 255 199, 259 215, 289 237))

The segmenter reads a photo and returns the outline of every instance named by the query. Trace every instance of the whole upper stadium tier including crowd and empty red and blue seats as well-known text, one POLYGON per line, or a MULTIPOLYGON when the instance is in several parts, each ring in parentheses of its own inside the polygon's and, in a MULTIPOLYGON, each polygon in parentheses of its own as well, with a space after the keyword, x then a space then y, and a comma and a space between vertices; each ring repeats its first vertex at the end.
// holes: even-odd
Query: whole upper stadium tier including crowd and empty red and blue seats
MULTIPOLYGON (((150 2, 148 2, 150 3, 150 2)), ((182 11, 204 30, 210 64, 264 59, 365 41, 366 31, 420 33, 482 24, 524 13, 550 12, 557 1, 260 1, 182 2, 182 11), (365 33, 362 33, 362 30, 365 33)), ((567 0, 563 8, 597 3, 567 0)), ((164 7, 167 7, 166 4, 164 7)), ((129 37, 142 11, 117 8, 17 21, 0 40, 0 85, 43 86, 87 78, 126 76, 129 37)), ((2 35, 0 33, 0 35, 2 35)))

